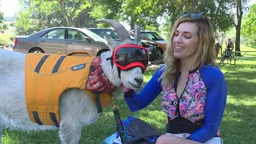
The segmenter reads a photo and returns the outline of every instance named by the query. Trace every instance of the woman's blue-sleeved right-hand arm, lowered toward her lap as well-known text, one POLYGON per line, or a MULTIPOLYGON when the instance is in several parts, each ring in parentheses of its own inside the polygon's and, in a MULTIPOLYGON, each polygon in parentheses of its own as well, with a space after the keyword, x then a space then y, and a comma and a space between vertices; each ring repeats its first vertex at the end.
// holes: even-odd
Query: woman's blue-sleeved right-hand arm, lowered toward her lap
POLYGON ((217 135, 226 107, 226 95, 226 81, 220 71, 208 87, 204 126, 190 135, 191 140, 203 143, 217 135))

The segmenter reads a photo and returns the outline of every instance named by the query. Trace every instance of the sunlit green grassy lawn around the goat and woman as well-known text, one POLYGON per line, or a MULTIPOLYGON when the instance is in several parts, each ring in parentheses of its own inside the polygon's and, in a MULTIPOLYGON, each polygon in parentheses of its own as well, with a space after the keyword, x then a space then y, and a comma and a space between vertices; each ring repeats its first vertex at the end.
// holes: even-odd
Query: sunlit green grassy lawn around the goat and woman
MULTIPOLYGON (((256 49, 254 49, 256 50, 256 49)), ((249 51, 249 50, 248 50, 249 51)), ((227 144, 253 144, 256 142, 256 61, 237 62, 237 65, 221 64, 226 76, 228 100, 222 121, 222 138, 227 144)), ((155 70, 147 70, 145 83, 155 70)), ((160 134, 165 133, 166 114, 160 106, 162 94, 144 110, 131 113, 126 102, 118 96, 121 118, 134 115, 154 126, 160 134)), ((110 108, 104 109, 98 121, 82 129, 80 143, 98 144, 115 131, 114 115, 110 108)), ((20 132, 6 129, 3 132, 3 144, 54 144, 58 140, 58 130, 40 132, 20 132)))

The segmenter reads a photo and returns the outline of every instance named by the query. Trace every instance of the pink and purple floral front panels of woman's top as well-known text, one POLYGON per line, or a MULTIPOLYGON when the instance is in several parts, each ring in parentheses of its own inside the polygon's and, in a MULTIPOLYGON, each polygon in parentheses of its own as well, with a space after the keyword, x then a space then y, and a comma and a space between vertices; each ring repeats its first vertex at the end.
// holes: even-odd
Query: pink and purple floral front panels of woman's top
MULTIPOLYGON (((162 93, 162 110, 172 120, 178 116, 176 114, 178 97, 174 86, 171 88, 163 87, 162 93)), ((179 113, 181 116, 189 119, 191 122, 201 121, 205 116, 206 93, 206 86, 202 81, 200 71, 190 72, 185 90, 179 102, 179 113)))

